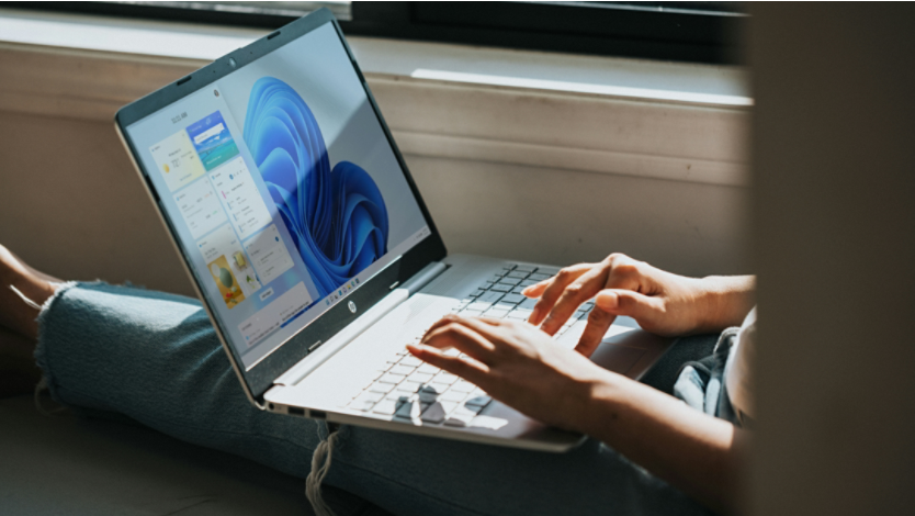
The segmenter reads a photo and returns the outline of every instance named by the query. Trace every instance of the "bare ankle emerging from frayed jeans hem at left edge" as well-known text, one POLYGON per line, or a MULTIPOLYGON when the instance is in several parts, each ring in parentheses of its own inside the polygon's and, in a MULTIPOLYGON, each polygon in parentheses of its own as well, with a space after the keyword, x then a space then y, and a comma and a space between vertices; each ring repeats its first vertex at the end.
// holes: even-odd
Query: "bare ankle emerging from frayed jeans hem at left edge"
MULTIPOLYGON (((0 245, 0 326, 34 343, 38 338, 38 310, 13 290, 42 305, 54 294, 56 282, 23 263, 0 245), (12 287, 12 288, 11 288, 12 287)), ((4 351, 5 346, 0 347, 4 351)))

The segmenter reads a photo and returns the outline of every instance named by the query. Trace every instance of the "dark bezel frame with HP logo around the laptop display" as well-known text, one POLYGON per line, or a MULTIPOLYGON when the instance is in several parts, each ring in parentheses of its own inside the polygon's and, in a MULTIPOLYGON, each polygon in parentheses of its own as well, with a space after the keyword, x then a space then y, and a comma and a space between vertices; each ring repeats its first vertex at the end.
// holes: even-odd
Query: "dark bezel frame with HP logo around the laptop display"
MULTIPOLYGON (((341 63, 341 66, 342 65, 344 64, 341 63)), ((366 310, 381 301, 382 298, 391 292, 392 285, 406 282, 406 280, 419 272, 430 262, 441 260, 447 256, 447 250, 444 248, 444 243, 441 239, 441 235, 432 222, 429 210, 426 207, 426 203, 422 201, 422 197, 420 195, 419 190, 416 187, 416 182, 407 168, 407 164, 405 162, 397 144, 394 142, 391 130, 388 128, 384 116, 382 115, 381 110, 379 109, 377 103, 369 89, 365 78, 362 75, 362 70, 355 63, 355 58, 347 44, 346 37, 343 37, 340 25, 327 9, 319 9, 307 16, 303 16, 251 43, 250 45, 238 48, 216 59, 212 64, 172 83, 169 83, 161 89, 132 102, 131 104, 125 105, 117 111, 114 121, 124 145, 132 154, 134 165, 143 178, 144 187, 147 189, 160 217, 162 218, 162 222, 170 233, 172 242, 176 244, 176 248, 181 256, 185 270, 194 283, 197 295, 204 303, 214 326, 216 326, 216 332, 223 347, 229 355, 233 367, 246 389, 246 394, 255 403, 260 404, 263 393, 270 389, 274 379, 305 358, 305 356, 307 356, 310 351, 314 351, 318 343, 326 343, 340 329, 351 324, 366 310), (261 57, 285 46, 286 44, 320 26, 324 26, 327 23, 331 23, 334 25, 337 36, 340 38, 340 43, 343 45, 343 48, 349 56, 350 66, 353 67, 357 76, 359 77, 359 80, 365 91, 365 96, 369 99, 369 103, 377 117, 379 124, 381 125, 382 131, 391 145, 397 162, 404 171, 407 183, 409 184, 416 202, 422 212, 422 216, 425 217, 431 234, 403 256, 395 258, 393 262, 382 269, 371 280, 364 282, 362 285, 348 294, 347 300, 352 301, 355 306, 359 307, 357 312, 351 312, 348 307, 348 303, 338 303, 332 305, 318 318, 301 329, 295 336, 279 346, 257 364, 246 370, 242 364, 241 357, 225 337, 218 313, 214 310, 214 305, 211 300, 202 293, 202 278, 199 276, 199 272, 194 270, 194 267, 192 266, 193 262, 188 256, 189 250, 184 248, 178 238, 178 233, 172 225, 173 223, 165 211, 155 186, 149 180, 148 171, 144 169, 142 160, 138 159, 139 153, 132 142, 127 127, 129 127, 133 123, 168 108, 169 105, 203 88, 206 88, 213 82, 247 65, 250 65, 251 63, 255 63, 261 57), (309 350, 309 348, 313 349, 309 350)))

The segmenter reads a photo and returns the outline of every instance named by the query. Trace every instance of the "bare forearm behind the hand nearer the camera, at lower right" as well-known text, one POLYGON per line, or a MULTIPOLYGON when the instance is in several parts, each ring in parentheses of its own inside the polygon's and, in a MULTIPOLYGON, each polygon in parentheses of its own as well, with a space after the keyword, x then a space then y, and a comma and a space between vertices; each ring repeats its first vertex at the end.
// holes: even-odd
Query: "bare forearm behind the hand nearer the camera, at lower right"
POLYGON ((673 396, 607 373, 581 428, 712 509, 732 512, 745 434, 673 396))

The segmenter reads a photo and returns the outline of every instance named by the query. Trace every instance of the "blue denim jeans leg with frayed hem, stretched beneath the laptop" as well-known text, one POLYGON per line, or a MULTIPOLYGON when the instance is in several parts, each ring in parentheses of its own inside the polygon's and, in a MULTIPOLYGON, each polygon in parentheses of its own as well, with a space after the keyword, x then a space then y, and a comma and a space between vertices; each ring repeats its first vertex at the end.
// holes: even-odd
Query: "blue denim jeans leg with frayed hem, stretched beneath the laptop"
MULTIPOLYGON (((201 304, 79 283, 39 317, 52 395, 305 478, 326 427, 257 410, 201 304)), ((328 484, 402 515, 708 514, 612 449, 545 453, 344 426, 328 484)), ((658 446, 662 446, 660 444, 658 446)))

